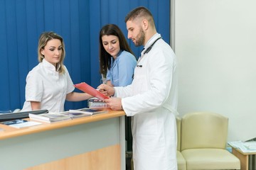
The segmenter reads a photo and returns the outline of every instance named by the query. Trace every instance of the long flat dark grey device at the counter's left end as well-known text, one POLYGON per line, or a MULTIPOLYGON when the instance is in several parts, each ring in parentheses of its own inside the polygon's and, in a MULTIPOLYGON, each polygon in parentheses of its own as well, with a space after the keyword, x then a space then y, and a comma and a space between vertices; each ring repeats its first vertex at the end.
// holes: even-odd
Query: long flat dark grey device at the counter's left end
POLYGON ((24 111, 24 112, 16 112, 16 113, 2 113, 2 114, 0 114, 0 122, 28 118, 29 113, 38 115, 38 114, 42 114, 42 113, 48 113, 48 110, 24 111))

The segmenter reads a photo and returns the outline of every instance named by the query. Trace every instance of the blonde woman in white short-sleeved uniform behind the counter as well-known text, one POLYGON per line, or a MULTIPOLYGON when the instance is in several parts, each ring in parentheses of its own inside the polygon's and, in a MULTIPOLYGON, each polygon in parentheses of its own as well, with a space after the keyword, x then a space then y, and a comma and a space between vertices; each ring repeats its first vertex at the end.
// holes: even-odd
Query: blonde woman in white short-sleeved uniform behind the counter
POLYGON ((63 38, 53 32, 42 33, 38 42, 38 65, 26 77, 26 101, 22 111, 64 111, 67 101, 83 101, 89 94, 73 92, 75 87, 63 64, 63 38))

